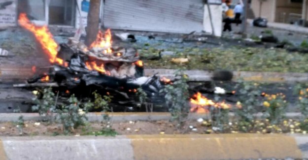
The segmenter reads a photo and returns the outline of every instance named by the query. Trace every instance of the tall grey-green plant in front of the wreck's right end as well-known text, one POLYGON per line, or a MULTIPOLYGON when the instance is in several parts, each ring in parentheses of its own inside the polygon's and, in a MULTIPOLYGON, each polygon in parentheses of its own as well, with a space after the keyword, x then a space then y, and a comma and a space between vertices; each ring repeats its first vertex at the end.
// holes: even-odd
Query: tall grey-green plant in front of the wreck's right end
POLYGON ((188 104, 188 85, 187 75, 182 71, 175 73, 179 80, 175 81, 172 85, 166 85, 165 89, 160 92, 166 93, 166 103, 172 116, 172 120, 177 122, 177 127, 181 128, 187 120, 190 106, 188 104))

